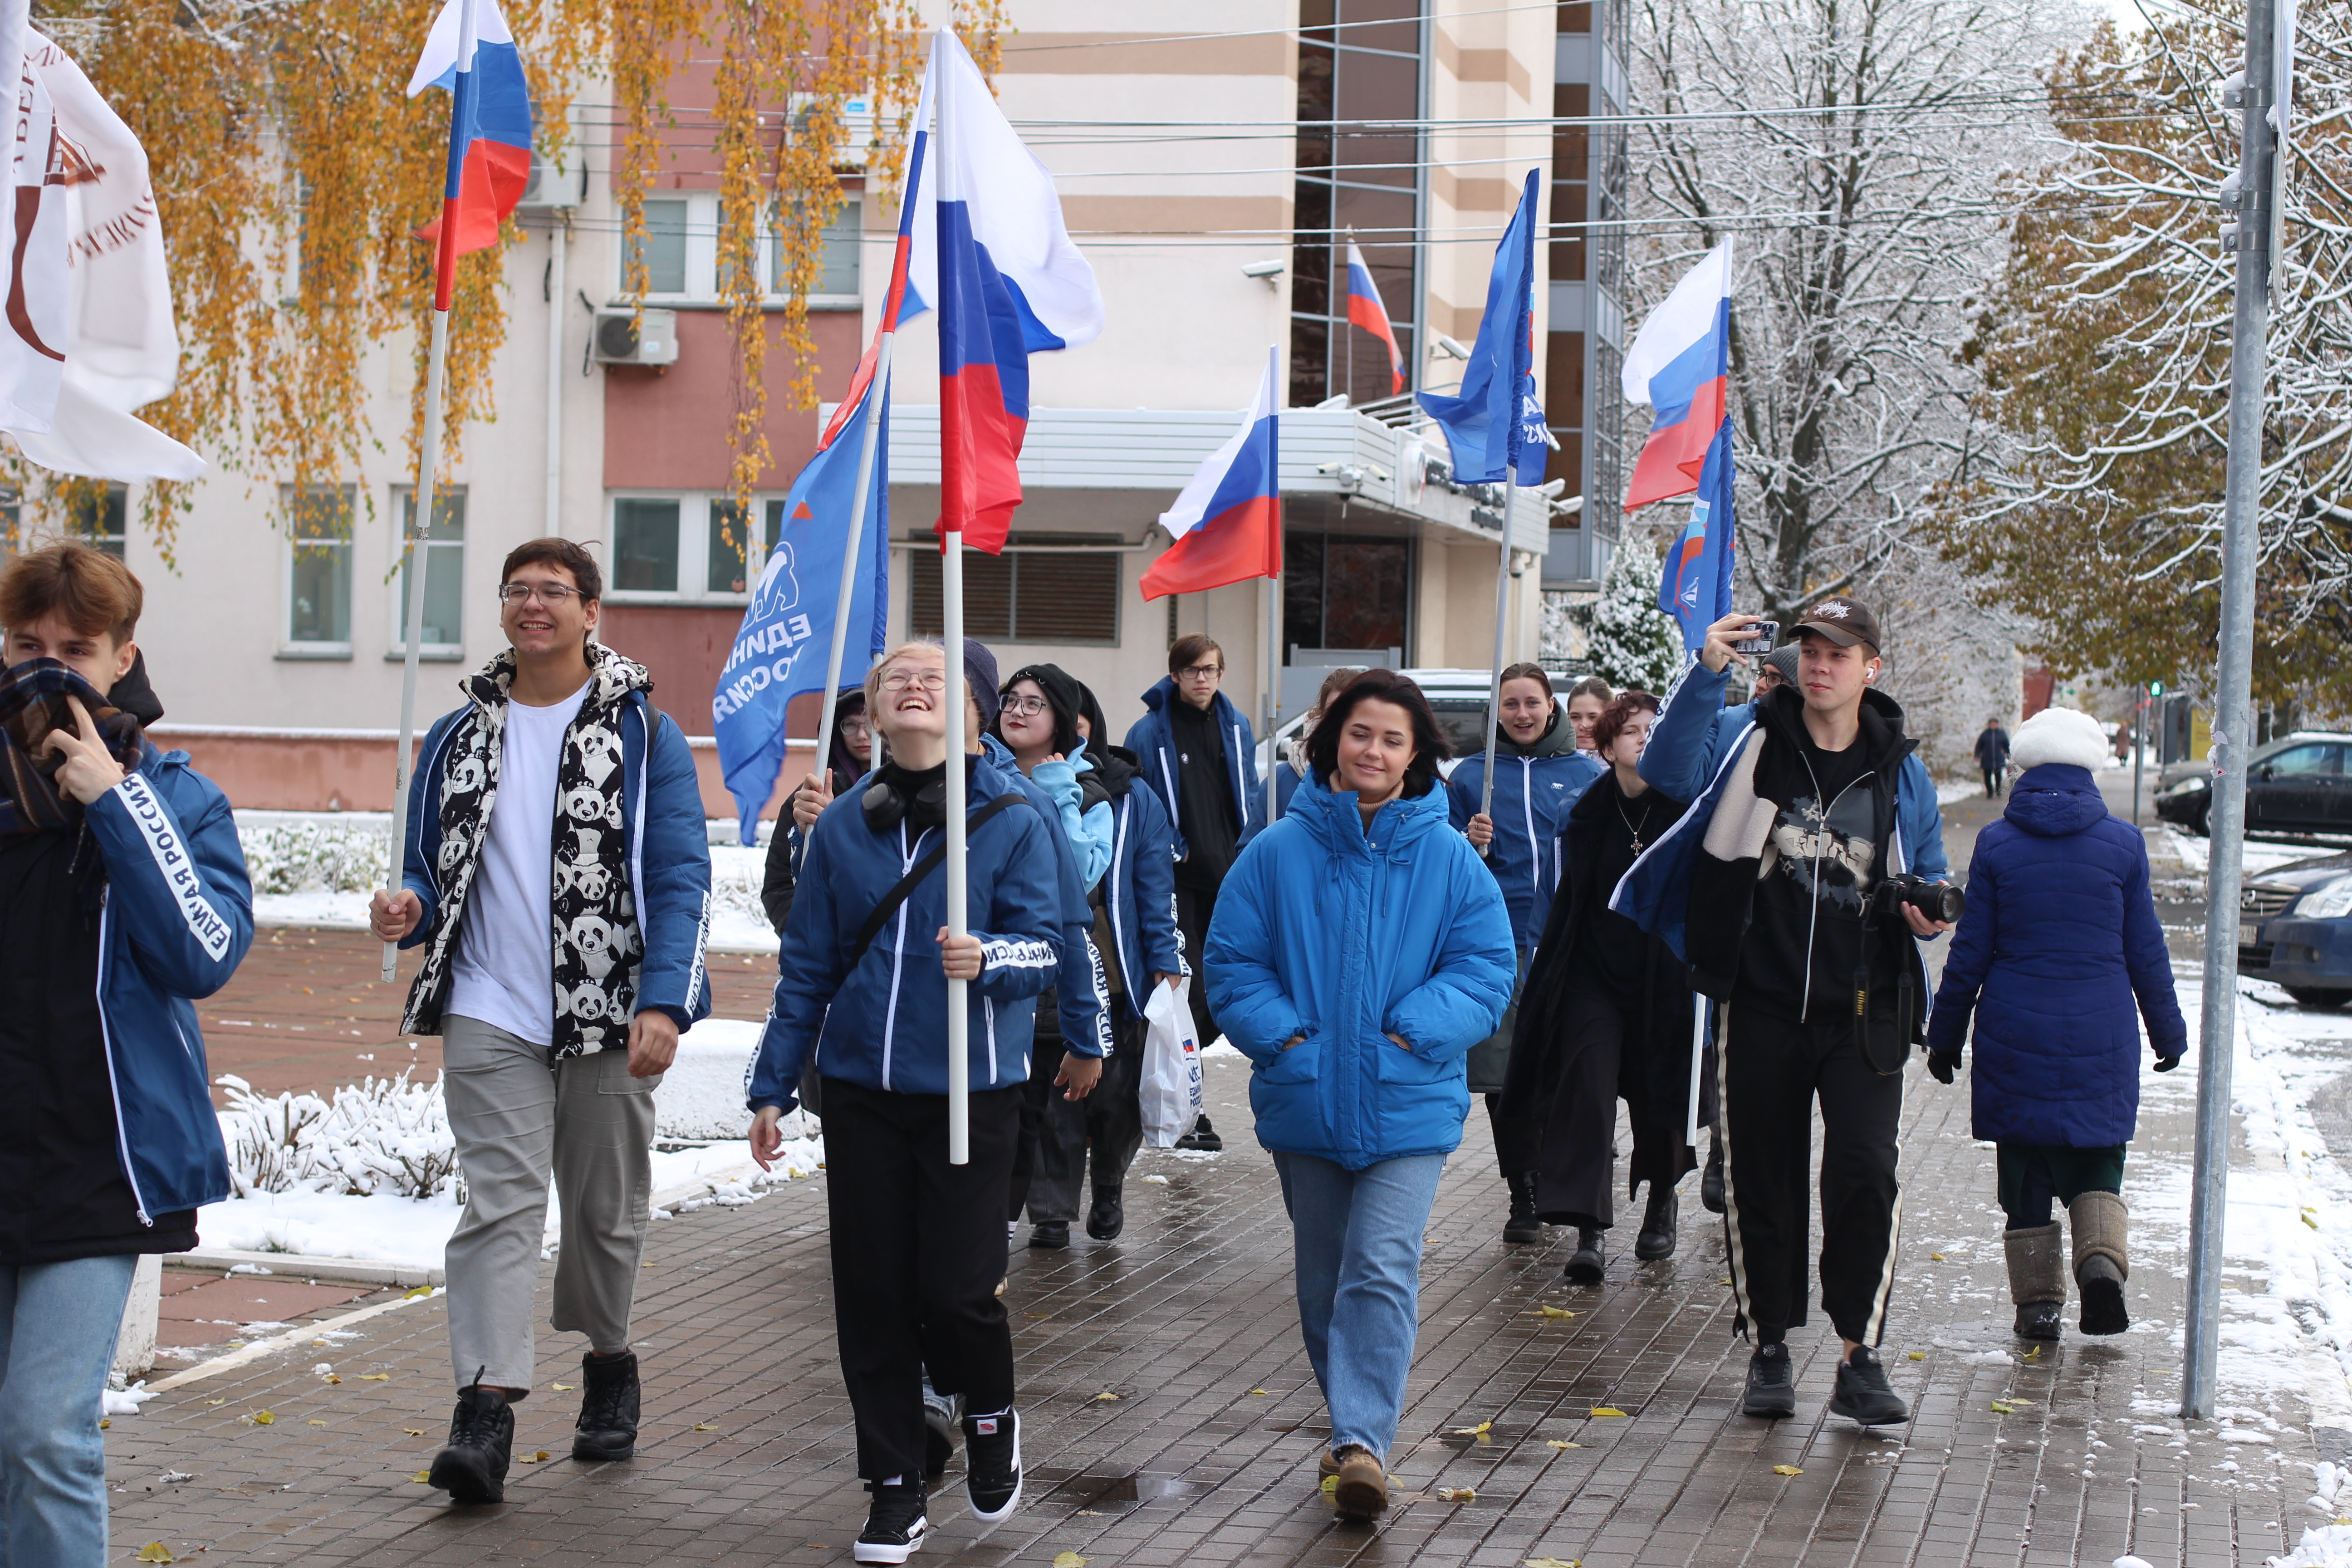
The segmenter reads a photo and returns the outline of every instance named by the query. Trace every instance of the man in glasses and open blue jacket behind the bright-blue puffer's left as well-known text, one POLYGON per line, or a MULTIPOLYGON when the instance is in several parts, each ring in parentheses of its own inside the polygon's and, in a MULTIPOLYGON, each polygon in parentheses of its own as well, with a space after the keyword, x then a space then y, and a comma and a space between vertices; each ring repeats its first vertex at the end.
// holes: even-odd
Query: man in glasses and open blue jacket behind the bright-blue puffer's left
MULTIPOLYGON (((1218 691, 1223 679, 1225 649, 1200 632, 1178 637, 1167 679, 1143 693, 1143 717, 1127 729, 1127 750, 1176 823, 1176 926, 1188 954, 1202 952, 1225 870, 1265 825, 1258 741, 1218 691)), ((1192 1025, 1204 1048, 1216 1041, 1207 985, 1192 987, 1192 1025)), ((1176 1147, 1221 1150, 1225 1140, 1202 1114, 1176 1147)))

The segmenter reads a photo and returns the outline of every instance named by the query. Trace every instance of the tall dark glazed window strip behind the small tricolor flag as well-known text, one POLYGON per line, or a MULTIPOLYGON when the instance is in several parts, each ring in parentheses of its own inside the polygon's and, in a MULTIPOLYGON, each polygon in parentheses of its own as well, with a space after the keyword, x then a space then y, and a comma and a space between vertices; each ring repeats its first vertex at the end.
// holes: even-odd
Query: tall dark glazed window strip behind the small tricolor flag
POLYGON ((1301 0, 1291 407, 1390 397, 1388 346, 1348 324, 1348 240, 1421 381, 1421 0, 1301 0), (1402 127, 1402 129, 1399 129, 1402 127))

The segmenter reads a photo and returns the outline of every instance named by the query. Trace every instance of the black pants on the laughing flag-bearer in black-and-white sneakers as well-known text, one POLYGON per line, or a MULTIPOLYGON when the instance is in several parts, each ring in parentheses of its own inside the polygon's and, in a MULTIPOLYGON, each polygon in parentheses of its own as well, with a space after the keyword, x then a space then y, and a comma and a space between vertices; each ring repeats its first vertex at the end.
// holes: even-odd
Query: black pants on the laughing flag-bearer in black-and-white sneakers
POLYGON ((826 1079, 833 1324, 858 1427, 858 1476, 922 1474, 922 1373, 967 1410, 1014 1401, 1004 1190, 1021 1091, 971 1093, 971 1164, 948 1164, 948 1095, 826 1079))

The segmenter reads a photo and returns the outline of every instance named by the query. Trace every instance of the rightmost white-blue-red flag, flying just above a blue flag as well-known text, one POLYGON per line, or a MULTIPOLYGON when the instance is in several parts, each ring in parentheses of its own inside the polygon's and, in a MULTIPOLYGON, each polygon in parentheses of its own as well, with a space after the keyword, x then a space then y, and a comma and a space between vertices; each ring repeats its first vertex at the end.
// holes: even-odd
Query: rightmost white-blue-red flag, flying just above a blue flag
POLYGON ((1724 423, 1731 374, 1731 240, 1700 259, 1625 350, 1625 397, 1656 414, 1625 487, 1625 510, 1698 489, 1724 423))

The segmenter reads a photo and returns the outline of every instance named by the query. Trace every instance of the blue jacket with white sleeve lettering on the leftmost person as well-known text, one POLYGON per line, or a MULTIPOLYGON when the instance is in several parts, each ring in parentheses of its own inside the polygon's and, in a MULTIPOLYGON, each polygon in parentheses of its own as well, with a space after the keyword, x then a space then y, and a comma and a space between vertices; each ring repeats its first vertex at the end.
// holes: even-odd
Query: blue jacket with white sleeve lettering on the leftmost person
POLYGON ((85 813, 106 858, 99 1020, 115 1088, 115 1152, 139 1222, 228 1197, 195 997, 228 985, 254 940, 238 818, 188 752, 158 752, 85 813))

